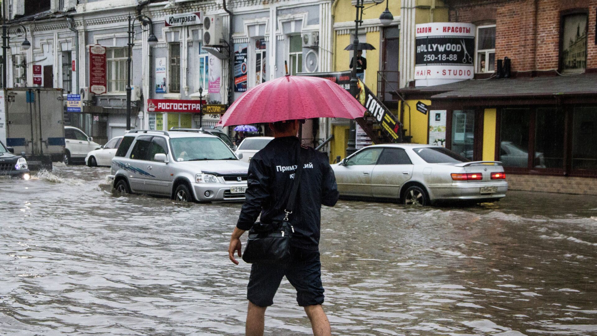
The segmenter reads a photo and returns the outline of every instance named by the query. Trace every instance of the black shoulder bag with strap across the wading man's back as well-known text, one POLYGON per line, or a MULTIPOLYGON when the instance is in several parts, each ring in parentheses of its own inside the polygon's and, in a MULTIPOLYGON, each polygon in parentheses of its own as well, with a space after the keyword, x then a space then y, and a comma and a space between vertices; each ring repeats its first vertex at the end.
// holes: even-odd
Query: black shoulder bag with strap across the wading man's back
POLYGON ((288 215, 293 213, 298 185, 300 184, 300 177, 303 172, 300 143, 297 150, 297 161, 297 168, 294 170, 293 188, 290 191, 284 209, 284 219, 270 223, 256 222, 249 231, 247 247, 242 254, 242 259, 249 264, 284 264, 290 259, 290 239, 294 233, 294 227, 288 221, 288 215))

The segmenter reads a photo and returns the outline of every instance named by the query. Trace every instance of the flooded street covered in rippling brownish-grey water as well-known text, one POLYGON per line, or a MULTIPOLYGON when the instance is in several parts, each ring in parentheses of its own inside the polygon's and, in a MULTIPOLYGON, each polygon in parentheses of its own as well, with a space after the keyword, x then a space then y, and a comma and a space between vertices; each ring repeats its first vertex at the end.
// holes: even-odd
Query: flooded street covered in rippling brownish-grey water
MULTIPOLYGON (((240 203, 116 197, 109 169, 0 179, 0 335, 240 335, 240 203)), ((243 237, 243 242, 246 240, 243 237)), ((322 209, 336 335, 597 335, 597 197, 322 209)), ((284 280, 266 335, 311 332, 284 280)))

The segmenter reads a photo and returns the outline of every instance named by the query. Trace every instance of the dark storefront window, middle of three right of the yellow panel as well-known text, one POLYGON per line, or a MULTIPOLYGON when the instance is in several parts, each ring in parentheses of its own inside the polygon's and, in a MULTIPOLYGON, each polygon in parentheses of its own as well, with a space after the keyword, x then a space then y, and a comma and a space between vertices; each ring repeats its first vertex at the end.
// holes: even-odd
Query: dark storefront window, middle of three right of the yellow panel
POLYGON ((535 123, 535 168, 564 168, 565 114, 556 108, 538 108, 535 123))

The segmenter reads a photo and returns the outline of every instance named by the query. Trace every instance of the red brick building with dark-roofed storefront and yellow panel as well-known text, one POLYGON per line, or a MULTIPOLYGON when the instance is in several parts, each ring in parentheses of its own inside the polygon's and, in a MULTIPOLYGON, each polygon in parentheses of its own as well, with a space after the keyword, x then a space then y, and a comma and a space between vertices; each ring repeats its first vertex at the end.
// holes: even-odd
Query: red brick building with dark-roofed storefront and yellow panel
POLYGON ((402 96, 445 111, 447 148, 502 161, 512 189, 597 194, 597 0, 445 2, 476 26, 475 79, 402 96))

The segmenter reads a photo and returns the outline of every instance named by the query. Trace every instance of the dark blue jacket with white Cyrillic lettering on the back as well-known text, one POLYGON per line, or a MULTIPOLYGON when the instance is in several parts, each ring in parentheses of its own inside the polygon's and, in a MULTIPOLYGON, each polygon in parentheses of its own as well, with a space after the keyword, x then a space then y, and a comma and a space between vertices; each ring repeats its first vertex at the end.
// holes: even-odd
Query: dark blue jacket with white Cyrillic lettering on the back
MULTIPOLYGON (((295 167, 298 138, 275 138, 251 158, 248 188, 236 227, 249 230, 261 213, 261 222, 281 221, 290 194, 295 167)), ((293 213, 291 245, 318 249, 321 204, 334 206, 338 201, 338 186, 328 157, 313 148, 301 146, 303 173, 293 213)))

